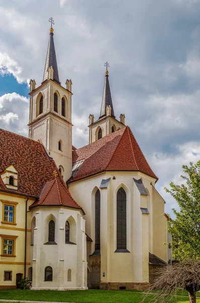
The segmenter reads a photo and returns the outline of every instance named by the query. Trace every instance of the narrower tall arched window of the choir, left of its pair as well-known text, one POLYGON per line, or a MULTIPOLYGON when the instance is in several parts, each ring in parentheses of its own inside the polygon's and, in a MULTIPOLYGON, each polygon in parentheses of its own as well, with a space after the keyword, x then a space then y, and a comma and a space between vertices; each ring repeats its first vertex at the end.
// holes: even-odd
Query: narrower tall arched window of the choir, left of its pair
POLYGON ((100 190, 95 194, 95 250, 100 250, 100 190))

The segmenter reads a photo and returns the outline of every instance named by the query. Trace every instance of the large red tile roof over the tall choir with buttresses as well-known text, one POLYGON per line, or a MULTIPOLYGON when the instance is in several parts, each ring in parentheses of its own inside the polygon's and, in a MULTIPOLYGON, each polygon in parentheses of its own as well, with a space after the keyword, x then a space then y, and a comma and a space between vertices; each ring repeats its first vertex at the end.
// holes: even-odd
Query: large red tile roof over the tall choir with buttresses
POLYGON ((128 126, 72 154, 73 163, 85 160, 71 182, 102 171, 140 171, 158 179, 128 126))

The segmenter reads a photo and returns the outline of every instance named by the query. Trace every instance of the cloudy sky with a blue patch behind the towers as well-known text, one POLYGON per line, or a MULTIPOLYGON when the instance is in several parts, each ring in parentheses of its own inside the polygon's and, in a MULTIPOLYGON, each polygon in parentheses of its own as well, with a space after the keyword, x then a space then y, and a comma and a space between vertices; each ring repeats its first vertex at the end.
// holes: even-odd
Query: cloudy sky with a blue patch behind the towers
POLYGON ((42 81, 53 17, 59 77, 73 81, 73 144, 88 143, 104 62, 116 117, 125 114, 164 191, 200 159, 199 0, 0 0, 0 128, 28 136, 30 78, 42 81))

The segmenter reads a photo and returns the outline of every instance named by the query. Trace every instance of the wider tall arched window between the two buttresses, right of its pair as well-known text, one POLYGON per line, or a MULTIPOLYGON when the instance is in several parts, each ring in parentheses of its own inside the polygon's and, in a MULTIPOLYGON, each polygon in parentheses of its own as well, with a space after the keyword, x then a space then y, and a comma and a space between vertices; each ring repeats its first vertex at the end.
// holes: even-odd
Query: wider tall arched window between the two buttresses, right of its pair
POLYGON ((126 193, 117 191, 117 249, 126 249, 126 193))

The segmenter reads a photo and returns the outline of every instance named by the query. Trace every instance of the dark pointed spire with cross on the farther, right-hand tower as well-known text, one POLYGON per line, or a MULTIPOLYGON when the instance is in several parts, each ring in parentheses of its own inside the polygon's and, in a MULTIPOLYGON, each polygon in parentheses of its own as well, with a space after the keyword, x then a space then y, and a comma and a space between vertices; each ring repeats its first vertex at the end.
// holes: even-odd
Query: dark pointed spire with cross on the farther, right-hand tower
POLYGON ((110 85, 109 85, 109 81, 108 81, 108 67, 110 67, 110 66, 109 66, 108 62, 106 62, 104 64, 104 66, 106 66, 105 83, 104 83, 103 98, 102 98, 102 103, 101 103, 101 113, 100 113, 99 118, 106 115, 106 106, 107 105, 111 106, 111 116, 113 118, 115 118, 114 109, 113 109, 113 106, 112 106, 112 97, 111 97, 111 92, 110 92, 110 85))

